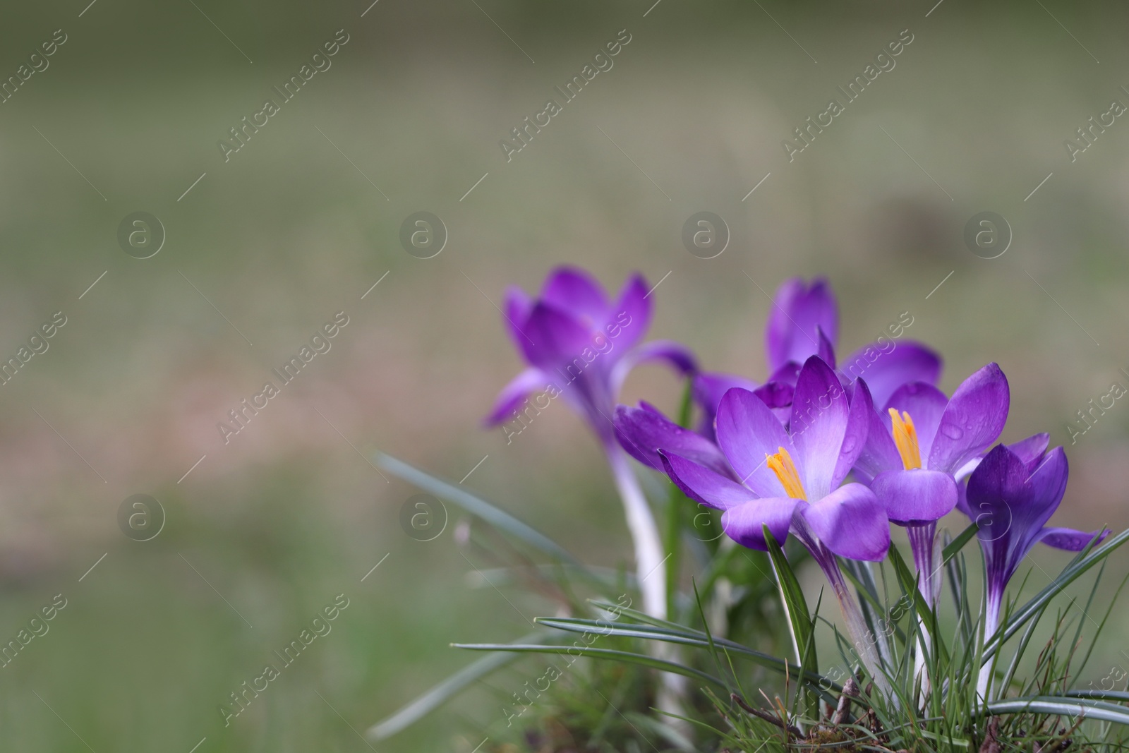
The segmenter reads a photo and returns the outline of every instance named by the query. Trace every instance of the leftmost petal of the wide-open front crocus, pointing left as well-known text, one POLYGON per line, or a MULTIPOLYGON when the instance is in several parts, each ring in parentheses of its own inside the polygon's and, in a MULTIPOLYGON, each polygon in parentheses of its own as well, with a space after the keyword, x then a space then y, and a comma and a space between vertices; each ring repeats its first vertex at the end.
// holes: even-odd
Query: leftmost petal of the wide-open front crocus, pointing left
POLYGON ((683 429, 658 411, 647 408, 615 408, 615 437, 633 458, 658 471, 665 471, 658 450, 675 453, 681 457, 732 475, 721 449, 706 437, 683 429))

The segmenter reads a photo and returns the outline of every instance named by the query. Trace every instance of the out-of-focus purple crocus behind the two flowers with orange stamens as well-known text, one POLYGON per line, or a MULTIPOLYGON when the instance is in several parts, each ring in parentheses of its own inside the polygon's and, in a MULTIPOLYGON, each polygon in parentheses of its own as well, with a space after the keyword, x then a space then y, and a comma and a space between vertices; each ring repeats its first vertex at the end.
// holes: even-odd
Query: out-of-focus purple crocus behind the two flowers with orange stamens
MULTIPOLYGON (((940 357, 921 343, 896 342, 912 323, 913 317, 904 312, 875 342, 847 357, 838 365, 840 380, 854 384, 865 377, 876 405, 884 405, 908 382, 936 384, 940 357)), ((837 368, 838 340, 839 305, 828 281, 816 278, 805 284, 800 278, 786 280, 777 289, 764 331, 769 370, 764 384, 730 374, 703 373, 694 377, 694 400, 703 413, 702 434, 712 436, 718 403, 732 387, 755 392, 781 421, 787 420, 800 365, 819 356, 837 368)))

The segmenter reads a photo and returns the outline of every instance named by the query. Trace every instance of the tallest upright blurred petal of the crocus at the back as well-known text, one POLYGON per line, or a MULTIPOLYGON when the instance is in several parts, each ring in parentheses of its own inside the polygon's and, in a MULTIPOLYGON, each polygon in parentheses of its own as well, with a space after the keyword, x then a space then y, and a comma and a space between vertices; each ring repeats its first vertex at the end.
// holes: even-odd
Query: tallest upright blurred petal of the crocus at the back
POLYGON ((815 356, 820 350, 816 327, 834 345, 839 312, 826 280, 813 280, 811 288, 799 278, 785 281, 777 289, 764 331, 769 369, 774 371, 788 361, 803 364, 815 356))

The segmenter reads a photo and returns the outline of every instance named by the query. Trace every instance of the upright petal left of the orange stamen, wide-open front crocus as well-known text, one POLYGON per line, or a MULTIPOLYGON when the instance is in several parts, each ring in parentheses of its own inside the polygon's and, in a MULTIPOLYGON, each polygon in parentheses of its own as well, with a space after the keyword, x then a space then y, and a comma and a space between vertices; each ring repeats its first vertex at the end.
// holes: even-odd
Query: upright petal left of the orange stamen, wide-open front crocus
POLYGON ((779 497, 784 488, 764 462, 780 447, 793 449, 780 421, 760 397, 734 387, 717 409, 717 443, 742 483, 758 497, 779 497))

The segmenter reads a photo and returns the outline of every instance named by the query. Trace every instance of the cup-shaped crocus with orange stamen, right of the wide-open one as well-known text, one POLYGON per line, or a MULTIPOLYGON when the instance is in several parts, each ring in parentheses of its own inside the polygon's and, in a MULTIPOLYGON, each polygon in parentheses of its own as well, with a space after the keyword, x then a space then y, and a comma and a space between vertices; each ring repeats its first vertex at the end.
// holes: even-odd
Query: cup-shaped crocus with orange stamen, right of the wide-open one
POLYGON ((934 563, 937 520, 956 506, 962 467, 999 438, 1010 404, 1007 377, 996 364, 979 369, 952 399, 930 384, 911 382, 872 413, 856 473, 886 515, 905 526, 918 585, 931 606, 940 589, 934 563))

